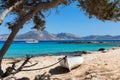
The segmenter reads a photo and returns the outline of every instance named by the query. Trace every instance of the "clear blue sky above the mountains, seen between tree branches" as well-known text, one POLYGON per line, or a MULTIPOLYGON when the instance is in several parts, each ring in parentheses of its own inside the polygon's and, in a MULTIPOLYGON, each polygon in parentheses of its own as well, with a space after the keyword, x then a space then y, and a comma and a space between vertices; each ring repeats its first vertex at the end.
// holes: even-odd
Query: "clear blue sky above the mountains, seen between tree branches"
MULTIPOLYGON (((89 19, 85 13, 75 4, 67 7, 59 7, 51 10, 49 16, 46 16, 46 30, 50 33, 73 33, 78 36, 87 35, 120 35, 120 22, 100 21, 95 18, 89 19)), ((4 21, 12 19, 12 15, 4 21)), ((25 24, 19 34, 30 31, 32 23, 25 24)), ((10 33, 5 25, 0 26, 0 34, 10 33)))

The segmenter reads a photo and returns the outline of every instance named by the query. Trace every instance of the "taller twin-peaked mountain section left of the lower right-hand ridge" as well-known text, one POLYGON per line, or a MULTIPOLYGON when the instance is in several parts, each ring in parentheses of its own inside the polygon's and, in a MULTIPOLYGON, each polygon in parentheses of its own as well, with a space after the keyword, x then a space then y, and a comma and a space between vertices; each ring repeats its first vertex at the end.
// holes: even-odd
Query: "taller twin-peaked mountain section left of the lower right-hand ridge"
POLYGON ((52 34, 48 31, 29 31, 27 33, 17 35, 15 39, 26 40, 26 39, 36 39, 36 40, 78 40, 80 37, 71 33, 58 33, 52 34))

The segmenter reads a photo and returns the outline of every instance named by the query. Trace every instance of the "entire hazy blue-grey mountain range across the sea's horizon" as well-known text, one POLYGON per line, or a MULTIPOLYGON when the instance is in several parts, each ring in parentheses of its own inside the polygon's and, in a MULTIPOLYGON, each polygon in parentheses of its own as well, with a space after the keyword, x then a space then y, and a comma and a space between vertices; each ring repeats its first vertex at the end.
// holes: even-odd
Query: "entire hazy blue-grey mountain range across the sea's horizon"
MULTIPOLYGON (((8 34, 0 34, 0 40, 4 41, 8 38, 8 34)), ((53 34, 46 30, 40 31, 29 31, 24 34, 17 35, 14 40, 24 41, 28 39, 35 40, 120 40, 120 35, 90 35, 85 37, 76 36, 71 33, 58 33, 53 34)))

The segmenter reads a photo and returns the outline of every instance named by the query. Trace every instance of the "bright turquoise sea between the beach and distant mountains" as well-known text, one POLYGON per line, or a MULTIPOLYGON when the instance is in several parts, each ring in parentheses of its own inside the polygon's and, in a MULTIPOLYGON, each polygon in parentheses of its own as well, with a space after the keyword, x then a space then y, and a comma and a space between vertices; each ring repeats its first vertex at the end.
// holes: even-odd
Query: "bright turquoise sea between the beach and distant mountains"
MULTIPOLYGON (((72 41, 76 42, 76 41, 72 41)), ((25 57, 29 55, 58 54, 73 51, 96 51, 99 48, 109 49, 120 44, 93 44, 72 43, 70 41, 39 41, 39 43, 26 43, 25 41, 14 41, 7 51, 5 57, 25 57)), ((78 41, 77 41, 78 42, 78 41)), ((120 41, 119 41, 120 42, 120 41)), ((4 41, 0 41, 0 48, 4 41)))

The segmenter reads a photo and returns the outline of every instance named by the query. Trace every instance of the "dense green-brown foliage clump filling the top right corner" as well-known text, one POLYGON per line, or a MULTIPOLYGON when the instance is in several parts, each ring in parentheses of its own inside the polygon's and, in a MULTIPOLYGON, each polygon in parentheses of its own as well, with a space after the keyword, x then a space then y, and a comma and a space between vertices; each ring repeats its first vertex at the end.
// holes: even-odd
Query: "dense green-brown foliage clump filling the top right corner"
POLYGON ((90 18, 96 16, 100 20, 120 20, 120 0, 79 0, 79 3, 90 18))

